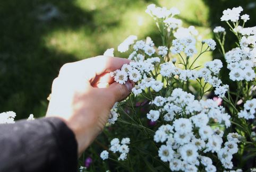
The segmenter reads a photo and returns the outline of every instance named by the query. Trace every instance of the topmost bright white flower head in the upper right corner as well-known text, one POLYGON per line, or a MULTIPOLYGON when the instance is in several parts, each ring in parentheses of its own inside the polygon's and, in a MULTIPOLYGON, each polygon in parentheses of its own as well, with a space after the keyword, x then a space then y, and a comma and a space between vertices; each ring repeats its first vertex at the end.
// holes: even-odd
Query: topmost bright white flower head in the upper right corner
POLYGON ((231 9, 227 9, 223 11, 223 16, 221 16, 221 21, 232 21, 236 22, 239 20, 240 13, 243 11, 243 8, 241 6, 234 7, 231 9))

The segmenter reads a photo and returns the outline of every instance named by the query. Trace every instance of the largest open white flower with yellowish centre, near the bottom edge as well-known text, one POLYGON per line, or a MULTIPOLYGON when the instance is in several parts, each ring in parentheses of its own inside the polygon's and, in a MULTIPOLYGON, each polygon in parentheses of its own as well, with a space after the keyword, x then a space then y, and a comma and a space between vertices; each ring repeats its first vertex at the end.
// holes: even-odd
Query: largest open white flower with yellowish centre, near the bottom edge
POLYGON ((198 148, 193 144, 185 144, 180 147, 181 157, 186 162, 194 162, 198 158, 198 148))

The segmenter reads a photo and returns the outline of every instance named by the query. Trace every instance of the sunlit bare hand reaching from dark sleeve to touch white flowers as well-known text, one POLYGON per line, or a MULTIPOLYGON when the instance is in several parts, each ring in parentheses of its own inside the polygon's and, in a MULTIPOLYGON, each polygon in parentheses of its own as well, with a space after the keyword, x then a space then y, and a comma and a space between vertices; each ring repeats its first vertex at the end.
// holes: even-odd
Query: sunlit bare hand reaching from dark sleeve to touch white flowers
POLYGON ((125 99, 133 83, 114 82, 109 72, 128 64, 124 58, 98 56, 67 63, 53 81, 46 116, 55 116, 74 132, 81 154, 103 130, 115 102, 125 99), (107 85, 98 88, 98 85, 107 85))

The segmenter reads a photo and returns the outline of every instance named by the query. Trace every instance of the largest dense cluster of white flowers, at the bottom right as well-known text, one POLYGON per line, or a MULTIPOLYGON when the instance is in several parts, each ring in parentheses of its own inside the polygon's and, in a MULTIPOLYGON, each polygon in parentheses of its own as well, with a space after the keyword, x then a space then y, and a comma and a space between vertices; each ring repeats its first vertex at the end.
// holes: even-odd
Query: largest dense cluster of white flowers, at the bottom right
MULTIPOLYGON (((209 125, 210 122, 224 122, 226 127, 231 125, 224 107, 211 99, 194 100, 192 94, 181 89, 174 89, 168 98, 156 97, 152 104, 159 108, 158 117, 165 114, 164 120, 173 124, 160 126, 154 136, 157 143, 166 143, 161 145, 158 153, 161 160, 169 162, 171 170, 197 171, 201 163, 206 171, 216 171, 211 159, 199 152, 216 152, 225 168, 233 167, 232 154, 237 152, 236 143, 240 136, 230 133, 221 148, 224 132, 209 125)), ((153 113, 157 114, 156 110, 153 113)))

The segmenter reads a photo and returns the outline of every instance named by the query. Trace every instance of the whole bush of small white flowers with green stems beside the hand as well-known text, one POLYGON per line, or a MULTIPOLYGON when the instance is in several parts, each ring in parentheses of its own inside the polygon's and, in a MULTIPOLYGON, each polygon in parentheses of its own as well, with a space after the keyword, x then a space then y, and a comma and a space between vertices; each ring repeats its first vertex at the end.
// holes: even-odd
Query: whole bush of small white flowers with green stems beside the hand
MULTIPOLYGON (((162 45, 156 47, 149 37, 130 36, 118 46, 118 51, 131 51, 132 61, 112 76, 120 84, 130 80, 136 85, 129 98, 113 107, 109 124, 119 123, 134 132, 115 133, 130 139, 121 143, 113 139, 100 155, 103 160, 109 158, 129 171, 141 170, 141 163, 142 169, 151 171, 248 170, 237 160, 253 161, 256 156, 256 27, 244 27, 249 15, 240 15, 242 11, 234 7, 221 17, 237 37, 237 47, 226 52, 226 31, 216 27, 223 58, 195 66, 204 53, 215 50, 215 40, 199 42, 198 31, 193 26, 183 28, 175 18, 180 13, 177 8, 148 6, 146 12, 156 22, 162 45), (221 81, 226 77, 220 74, 221 61, 227 63, 235 92, 221 81), (216 97, 209 99, 210 93, 216 97), (141 160, 134 161, 138 154, 141 160)), ((108 49, 105 55, 114 56, 113 52, 108 49)))

